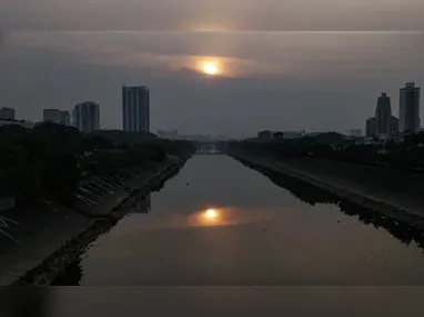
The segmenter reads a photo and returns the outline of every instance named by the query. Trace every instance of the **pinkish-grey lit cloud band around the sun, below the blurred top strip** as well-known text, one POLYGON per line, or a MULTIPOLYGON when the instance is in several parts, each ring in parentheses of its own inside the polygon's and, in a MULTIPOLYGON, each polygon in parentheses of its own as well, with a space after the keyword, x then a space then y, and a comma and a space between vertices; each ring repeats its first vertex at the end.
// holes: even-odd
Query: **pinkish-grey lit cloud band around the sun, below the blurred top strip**
POLYGON ((215 60, 228 77, 378 77, 422 70, 420 32, 16 32, 23 50, 52 50, 117 68, 166 73, 215 60))

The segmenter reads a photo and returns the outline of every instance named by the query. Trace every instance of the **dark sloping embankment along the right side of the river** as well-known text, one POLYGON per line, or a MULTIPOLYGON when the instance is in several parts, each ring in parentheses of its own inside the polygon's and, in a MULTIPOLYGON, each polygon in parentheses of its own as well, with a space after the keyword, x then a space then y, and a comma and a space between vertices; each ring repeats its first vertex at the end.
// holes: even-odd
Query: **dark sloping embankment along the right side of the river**
MULTIPOLYGON (((410 209, 400 204, 393 204, 393 199, 390 199, 390 197, 386 199, 384 192, 372 191, 370 182, 376 174, 373 174, 370 170, 367 172, 367 177, 364 176, 364 181, 360 184, 360 179, 357 177, 353 177, 353 180, 345 178, 345 175, 353 172, 354 169, 357 169, 356 167, 347 167, 343 165, 335 166, 337 165, 336 162, 322 162, 320 169, 317 168, 316 162, 312 165, 311 162, 302 160, 277 160, 275 158, 251 152, 233 152, 230 156, 245 166, 263 172, 265 176, 272 175, 275 179, 280 175, 281 177, 290 177, 300 180, 309 186, 324 190, 341 200, 347 200, 362 208, 372 210, 373 212, 377 212, 384 215, 385 217, 395 219, 398 222, 406 224, 414 229, 424 230, 423 211, 420 212, 420 210, 415 208, 410 209), (324 165, 327 167, 326 169, 323 168, 324 165), (331 165, 333 165, 333 167, 329 167, 331 165), (337 177, 329 172, 329 170, 335 169, 337 169, 337 177), (346 172, 343 172, 342 170, 346 170, 346 172), (369 184, 369 186, 366 184, 369 184)), ((281 184, 283 182, 284 180, 281 181, 281 184)), ((400 187, 402 185, 395 184, 395 186, 400 187)))

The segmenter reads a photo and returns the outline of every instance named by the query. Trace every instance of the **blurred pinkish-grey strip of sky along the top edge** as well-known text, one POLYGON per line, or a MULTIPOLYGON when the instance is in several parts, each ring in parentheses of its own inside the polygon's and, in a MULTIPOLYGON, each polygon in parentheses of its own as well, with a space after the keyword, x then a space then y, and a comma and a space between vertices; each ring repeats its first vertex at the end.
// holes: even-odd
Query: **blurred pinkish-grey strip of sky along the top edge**
POLYGON ((423 30, 418 0, 2 1, 0 21, 26 30, 423 30))

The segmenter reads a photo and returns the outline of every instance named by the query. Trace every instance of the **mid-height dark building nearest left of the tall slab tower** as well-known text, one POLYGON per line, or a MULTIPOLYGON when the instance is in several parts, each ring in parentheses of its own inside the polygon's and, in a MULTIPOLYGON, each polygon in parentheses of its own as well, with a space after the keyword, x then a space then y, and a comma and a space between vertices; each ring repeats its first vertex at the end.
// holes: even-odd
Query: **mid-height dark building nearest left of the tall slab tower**
POLYGON ((78 103, 72 111, 73 126, 80 131, 100 129, 100 106, 93 101, 78 103))

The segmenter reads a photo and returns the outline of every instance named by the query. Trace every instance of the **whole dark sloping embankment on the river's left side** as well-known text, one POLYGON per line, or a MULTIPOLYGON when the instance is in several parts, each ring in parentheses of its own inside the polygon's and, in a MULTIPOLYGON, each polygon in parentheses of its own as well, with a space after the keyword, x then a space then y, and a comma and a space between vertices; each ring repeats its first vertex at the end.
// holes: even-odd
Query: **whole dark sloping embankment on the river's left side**
POLYGON ((176 175, 186 160, 166 160, 152 167, 139 179, 125 184, 122 190, 105 197, 97 206, 78 211, 57 206, 43 214, 26 212, 20 219, 14 241, 8 241, 0 264, 0 285, 49 285, 65 267, 75 261, 100 235, 109 231, 129 209, 149 192, 160 190, 176 175), (33 219, 32 219, 33 218, 33 219), (28 222, 32 219, 32 224, 28 222))

